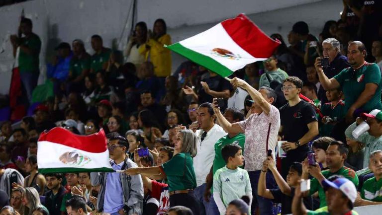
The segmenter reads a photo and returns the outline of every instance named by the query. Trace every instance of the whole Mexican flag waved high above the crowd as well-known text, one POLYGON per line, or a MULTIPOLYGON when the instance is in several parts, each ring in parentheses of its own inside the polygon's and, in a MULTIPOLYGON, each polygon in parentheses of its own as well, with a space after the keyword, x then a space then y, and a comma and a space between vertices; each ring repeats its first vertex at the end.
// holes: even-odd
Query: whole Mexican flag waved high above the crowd
POLYGON ((268 59, 280 45, 247 16, 239 14, 168 49, 223 77, 247 64, 268 59))

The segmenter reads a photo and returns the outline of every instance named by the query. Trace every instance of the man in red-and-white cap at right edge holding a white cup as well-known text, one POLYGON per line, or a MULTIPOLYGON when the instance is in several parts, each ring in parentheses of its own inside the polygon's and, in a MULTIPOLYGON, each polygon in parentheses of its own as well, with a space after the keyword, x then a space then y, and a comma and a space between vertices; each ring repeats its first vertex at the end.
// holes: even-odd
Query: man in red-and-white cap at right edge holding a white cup
POLYGON ((357 118, 357 121, 350 125, 345 133, 352 133, 362 122, 366 122, 370 129, 356 140, 366 143, 363 168, 368 168, 370 154, 375 150, 382 150, 382 111, 375 109, 370 113, 362 113, 361 117, 357 118))

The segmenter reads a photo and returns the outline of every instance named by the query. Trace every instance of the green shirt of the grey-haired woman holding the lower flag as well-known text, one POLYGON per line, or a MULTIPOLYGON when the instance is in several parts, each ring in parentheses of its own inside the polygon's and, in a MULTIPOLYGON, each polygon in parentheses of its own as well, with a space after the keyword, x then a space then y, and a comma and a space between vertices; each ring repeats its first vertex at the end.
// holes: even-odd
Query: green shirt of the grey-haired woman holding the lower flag
POLYGON ((170 192, 196 188, 196 177, 190 153, 174 155, 173 158, 162 164, 162 169, 167 176, 170 192))

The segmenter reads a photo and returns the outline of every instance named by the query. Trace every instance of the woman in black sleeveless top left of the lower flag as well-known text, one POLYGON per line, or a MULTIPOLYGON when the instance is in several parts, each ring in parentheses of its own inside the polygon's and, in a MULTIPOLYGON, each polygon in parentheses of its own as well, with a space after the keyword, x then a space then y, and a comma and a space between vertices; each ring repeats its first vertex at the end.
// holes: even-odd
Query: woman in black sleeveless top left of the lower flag
POLYGON ((34 187, 40 195, 45 194, 45 177, 38 173, 37 156, 32 154, 25 160, 25 172, 29 173, 24 180, 24 187, 34 187))

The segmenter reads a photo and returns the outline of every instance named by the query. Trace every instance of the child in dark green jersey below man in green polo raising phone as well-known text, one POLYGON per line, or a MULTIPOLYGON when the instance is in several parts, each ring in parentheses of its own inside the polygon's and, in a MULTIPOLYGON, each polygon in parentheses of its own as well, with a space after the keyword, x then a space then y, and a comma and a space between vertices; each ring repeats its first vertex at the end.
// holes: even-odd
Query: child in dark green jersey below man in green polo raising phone
POLYGON ((334 126, 346 115, 345 102, 341 100, 343 92, 340 88, 326 91, 328 103, 321 106, 321 113, 324 117, 321 119, 319 134, 321 137, 331 137, 334 126))

